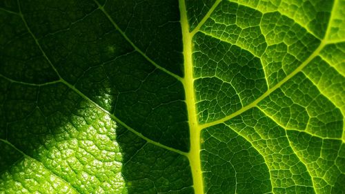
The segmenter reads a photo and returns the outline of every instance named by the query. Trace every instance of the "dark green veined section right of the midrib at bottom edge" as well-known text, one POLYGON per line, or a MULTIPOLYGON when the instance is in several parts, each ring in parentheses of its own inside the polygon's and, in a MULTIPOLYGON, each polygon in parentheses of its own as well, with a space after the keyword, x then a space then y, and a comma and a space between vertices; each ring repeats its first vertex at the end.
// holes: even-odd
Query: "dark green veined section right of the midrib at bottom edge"
POLYGON ((201 134, 205 193, 268 193, 270 173, 253 145, 224 124, 201 134))

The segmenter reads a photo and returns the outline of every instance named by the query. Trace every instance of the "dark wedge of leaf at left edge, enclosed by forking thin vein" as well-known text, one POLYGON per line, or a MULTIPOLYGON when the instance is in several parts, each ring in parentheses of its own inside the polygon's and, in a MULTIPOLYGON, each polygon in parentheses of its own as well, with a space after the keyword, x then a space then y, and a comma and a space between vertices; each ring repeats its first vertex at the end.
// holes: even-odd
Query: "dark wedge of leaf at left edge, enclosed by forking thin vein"
POLYGON ((1 75, 32 84, 59 79, 19 15, 0 12, 0 23, 1 75))

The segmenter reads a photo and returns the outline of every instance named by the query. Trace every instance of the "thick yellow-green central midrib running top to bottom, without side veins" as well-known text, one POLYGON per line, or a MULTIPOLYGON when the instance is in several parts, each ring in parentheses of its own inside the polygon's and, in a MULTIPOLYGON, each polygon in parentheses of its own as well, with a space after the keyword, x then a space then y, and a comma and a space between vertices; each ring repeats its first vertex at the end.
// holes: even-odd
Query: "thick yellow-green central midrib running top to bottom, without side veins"
POLYGON ((181 13, 182 40, 184 44, 184 89, 186 91, 186 104, 188 110, 188 121, 190 128, 190 152, 188 159, 193 175, 193 186, 195 194, 204 193, 204 185, 201 173, 200 161, 200 127, 197 122, 197 112, 195 110, 195 93, 193 78, 193 59, 192 59, 192 38, 189 32, 186 4, 184 0, 179 0, 179 9, 181 13))

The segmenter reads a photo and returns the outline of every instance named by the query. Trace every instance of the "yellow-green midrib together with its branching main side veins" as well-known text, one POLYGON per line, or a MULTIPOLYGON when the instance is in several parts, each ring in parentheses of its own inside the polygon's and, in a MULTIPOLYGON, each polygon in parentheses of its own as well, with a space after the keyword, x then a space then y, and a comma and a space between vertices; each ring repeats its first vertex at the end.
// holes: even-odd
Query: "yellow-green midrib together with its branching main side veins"
MULTIPOLYGON (((81 93, 77 88, 75 88, 75 86, 72 86, 67 81, 65 81, 63 78, 61 78, 61 76, 59 75, 59 72, 57 72, 56 68, 50 62, 50 60, 46 56, 45 52, 42 50, 41 46, 39 46, 39 42, 34 37, 32 32, 30 31, 30 28, 28 28, 27 24, 26 24, 26 28, 28 28, 30 34, 32 35, 32 37, 36 41, 37 46, 39 46, 39 48, 41 49, 41 52, 43 52, 43 56, 46 57, 47 61, 50 63, 52 68, 55 70, 55 72, 57 72, 57 75, 59 75, 59 80, 58 81, 52 81, 52 82, 47 83, 47 84, 56 84, 57 82, 61 82, 63 84, 66 84, 66 86, 68 86, 69 88, 74 90, 76 93, 81 95, 81 97, 83 97, 84 99, 87 99, 88 101, 90 101, 93 105, 95 105, 97 108, 102 110, 104 113, 106 113, 108 115, 111 115, 112 119, 114 119, 115 121, 119 122, 119 124, 121 124, 121 125, 125 126, 126 128, 128 128, 128 130, 132 131, 132 133, 135 133, 136 135, 138 135, 142 139, 145 139, 147 142, 150 142, 151 144, 155 144, 156 146, 159 146, 161 148, 165 148, 165 149, 167 149, 169 151, 173 151, 173 152, 179 153, 181 155, 186 155, 186 157, 188 157, 188 159, 190 161, 190 166, 191 166, 191 170, 192 170, 192 173, 193 173, 193 182, 194 182, 195 193, 204 193, 204 183, 203 183, 203 178, 202 178, 201 159, 200 159, 200 150, 201 150, 201 147, 200 147, 201 146, 200 133, 201 133, 201 130, 204 129, 204 128, 208 128, 210 126, 215 126, 217 124, 226 122, 229 119, 244 113, 246 110, 249 110, 250 108, 253 108, 253 107, 257 106, 259 101, 262 101, 264 98, 268 97, 268 95, 270 95, 270 93, 273 93, 273 91, 277 90, 277 88, 282 86, 282 84, 286 83, 286 81, 288 81, 290 78, 292 78, 294 75, 296 75, 297 72, 300 72, 302 70, 302 68, 304 68, 307 64, 309 64, 312 61, 312 59, 314 59, 315 57, 317 57, 317 55, 319 55, 319 52, 322 50, 322 48, 324 48, 324 46, 326 46, 328 43, 331 43, 331 41, 327 41, 327 40, 322 41, 321 44, 317 47, 317 49, 300 66, 298 66, 298 68, 293 70, 293 72, 288 74, 284 79, 282 79, 282 81, 279 81, 279 83, 277 83, 275 86, 273 86, 272 88, 269 88, 266 91, 266 93, 264 93, 263 95, 261 95, 260 97, 255 99, 255 101, 253 101, 250 104, 242 107, 241 109, 237 110, 235 113, 232 113, 232 114, 230 114, 230 115, 228 115, 226 117, 223 117, 221 119, 215 120, 214 122, 209 122, 209 123, 206 123, 206 124, 199 124, 198 121, 197 121, 197 110, 195 108, 195 104, 196 104, 195 88, 194 88, 195 87, 194 86, 195 78, 193 77, 193 58, 192 58, 192 54, 193 54, 193 37, 196 34, 196 32, 199 30, 199 28, 208 19, 208 17, 210 17, 210 14, 213 12, 213 10, 215 10, 215 8, 217 7, 217 5, 219 3, 220 3, 220 1, 216 1, 215 5, 206 14, 204 19, 201 20, 201 22, 198 24, 198 26, 195 28, 195 30, 190 32, 189 31, 189 25, 188 25, 187 11, 186 11, 186 3, 185 3, 184 0, 179 0, 179 6, 180 6, 179 8, 180 8, 180 13, 181 13, 181 29, 182 29, 183 46, 184 46, 184 75, 185 75, 184 78, 178 77, 177 75, 174 75, 171 72, 167 72, 167 70, 165 70, 164 68, 160 68, 157 64, 155 64, 154 61, 152 61, 151 59, 146 57, 144 52, 141 52, 141 50, 139 50, 139 48, 137 48, 128 39, 128 37, 126 37, 126 35, 124 35, 124 32, 122 32, 117 27, 116 23, 114 21, 112 21, 111 17, 99 5, 100 9, 106 14, 108 19, 110 19, 110 21, 115 26, 115 28, 117 28, 117 30, 119 30, 121 32, 121 34, 126 38, 127 41, 129 41, 131 43, 131 45, 135 48, 135 50, 137 50, 138 52, 140 52, 141 55, 146 57, 146 59, 148 61, 150 61, 154 66, 156 66, 157 68, 159 68, 159 69, 163 70, 164 72, 168 73, 168 75, 171 75, 172 77, 175 77, 176 79, 181 81, 182 84, 184 85, 184 89, 186 91, 186 104, 187 104, 187 108, 188 108, 188 122, 189 122, 189 128, 190 128, 190 152, 188 152, 188 153, 185 153, 183 151, 179 151, 179 150, 177 150, 175 148, 170 148, 168 146, 160 144, 159 142, 155 142, 155 141, 152 141, 151 139, 148 139, 147 137, 145 137, 141 133, 138 133, 135 129, 130 128, 130 126, 126 125, 124 122, 121 122, 121 120, 118 119, 117 117, 115 117, 115 115, 112 115, 107 110, 101 108, 101 106, 99 106, 95 101, 92 101, 86 95, 83 95, 83 93, 81 93)), ((23 19, 23 15, 22 14, 20 14, 20 15, 21 15, 21 17, 23 19)), ((26 21, 24 19, 23 19, 23 21, 24 21, 24 23, 26 23, 26 21)), ((329 29, 328 29, 328 32, 329 32, 329 29)), ((326 37, 327 37, 328 32, 326 33, 326 37)), ((8 79, 8 78, 6 78, 3 75, 0 75, 0 76, 5 78, 5 79, 8 79)), ((23 83, 23 82, 20 82, 20 81, 14 81, 12 79, 8 79, 8 80, 12 81, 12 82, 17 82, 18 84, 26 84, 26 83, 23 83)), ((43 85, 46 85, 46 84, 38 84, 38 85, 37 84, 28 84, 28 85, 43 86, 43 85)))

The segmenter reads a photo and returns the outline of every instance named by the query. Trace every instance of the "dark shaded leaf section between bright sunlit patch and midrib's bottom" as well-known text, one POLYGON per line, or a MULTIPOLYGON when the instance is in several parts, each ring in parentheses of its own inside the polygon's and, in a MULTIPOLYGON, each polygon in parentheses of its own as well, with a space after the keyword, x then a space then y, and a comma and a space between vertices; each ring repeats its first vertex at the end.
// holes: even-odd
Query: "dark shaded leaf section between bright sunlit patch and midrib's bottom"
POLYGON ((186 156, 147 143, 125 128, 117 135, 126 151, 122 173, 128 193, 194 193, 186 156))

